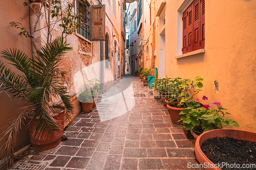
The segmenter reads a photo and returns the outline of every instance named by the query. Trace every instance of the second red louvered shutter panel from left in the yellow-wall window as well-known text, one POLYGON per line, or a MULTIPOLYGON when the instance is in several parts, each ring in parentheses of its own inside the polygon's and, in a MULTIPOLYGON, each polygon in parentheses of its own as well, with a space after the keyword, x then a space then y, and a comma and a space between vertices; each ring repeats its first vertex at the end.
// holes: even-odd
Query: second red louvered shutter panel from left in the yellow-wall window
POLYGON ((193 51, 193 3, 187 8, 187 53, 193 51))

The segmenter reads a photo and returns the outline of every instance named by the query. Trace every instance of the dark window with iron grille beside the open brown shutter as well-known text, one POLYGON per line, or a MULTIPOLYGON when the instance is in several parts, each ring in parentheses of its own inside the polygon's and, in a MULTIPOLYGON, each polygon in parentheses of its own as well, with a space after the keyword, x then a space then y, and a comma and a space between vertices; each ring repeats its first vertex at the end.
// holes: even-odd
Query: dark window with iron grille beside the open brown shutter
POLYGON ((90 39, 90 4, 86 2, 77 1, 77 13, 81 14, 81 19, 78 18, 77 22, 82 25, 77 29, 77 33, 86 39, 90 39))

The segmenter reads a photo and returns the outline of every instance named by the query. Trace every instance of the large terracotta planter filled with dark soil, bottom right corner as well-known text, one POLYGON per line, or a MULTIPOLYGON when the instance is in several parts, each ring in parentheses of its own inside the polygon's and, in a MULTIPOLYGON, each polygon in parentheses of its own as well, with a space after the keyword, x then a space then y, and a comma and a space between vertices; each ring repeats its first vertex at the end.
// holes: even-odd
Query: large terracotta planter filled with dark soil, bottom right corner
MULTIPOLYGON (((195 155, 200 164, 208 165, 207 167, 204 167, 204 169, 206 169, 206 170, 208 170, 208 169, 209 170, 226 169, 223 167, 219 168, 219 167, 214 166, 215 164, 218 164, 218 162, 219 163, 225 162, 225 163, 229 163, 229 164, 233 164, 233 163, 238 164, 237 162, 251 163, 251 162, 247 162, 247 161, 248 160, 250 161, 252 159, 252 161, 254 161, 253 163, 255 164, 255 158, 254 158, 254 156, 252 156, 252 153, 255 153, 255 148, 254 148, 254 151, 250 151, 250 150, 246 151, 246 149, 241 150, 240 149, 241 147, 236 147, 236 148, 231 149, 230 147, 232 147, 232 145, 231 146, 229 145, 229 147, 228 147, 229 149, 227 150, 227 144, 229 142, 220 143, 221 142, 220 140, 218 142, 215 142, 216 144, 218 144, 220 146, 217 146, 216 148, 212 148, 212 149, 210 149, 211 151, 208 152, 208 154, 215 154, 215 155, 207 157, 205 155, 205 153, 202 151, 202 145, 205 144, 204 142, 207 139, 211 139, 211 138, 215 138, 215 137, 220 137, 220 138, 227 137, 227 138, 233 138, 233 139, 238 139, 238 140, 245 140, 245 141, 249 141, 249 142, 256 142, 256 133, 244 131, 244 130, 216 129, 216 130, 210 130, 210 131, 202 133, 197 138, 197 141, 195 142, 195 155), (216 155, 216 152, 217 152, 217 151, 215 151, 216 149, 221 155, 216 155), (221 152, 221 150, 223 150, 224 152, 221 152), (240 155, 239 152, 242 152, 242 155, 240 155), (214 160, 212 158, 214 158, 214 160), (230 159, 232 161, 227 162, 227 160, 230 160, 230 159)), ((236 144, 238 144, 238 143, 239 142, 236 142, 236 144)), ((251 144, 249 144, 249 145, 251 145, 251 144)), ((240 165, 240 168, 241 167, 242 167, 242 165, 240 165)), ((240 168, 237 168, 237 169, 240 169, 240 168)))

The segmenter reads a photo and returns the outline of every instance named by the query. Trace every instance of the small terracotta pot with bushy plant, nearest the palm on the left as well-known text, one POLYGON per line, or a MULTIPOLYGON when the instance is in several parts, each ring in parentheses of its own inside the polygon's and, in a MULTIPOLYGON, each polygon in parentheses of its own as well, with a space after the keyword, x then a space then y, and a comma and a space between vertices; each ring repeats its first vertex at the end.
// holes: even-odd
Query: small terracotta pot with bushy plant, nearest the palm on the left
POLYGON ((93 110, 93 95, 92 92, 84 91, 78 96, 78 100, 81 102, 82 111, 91 112, 93 110))

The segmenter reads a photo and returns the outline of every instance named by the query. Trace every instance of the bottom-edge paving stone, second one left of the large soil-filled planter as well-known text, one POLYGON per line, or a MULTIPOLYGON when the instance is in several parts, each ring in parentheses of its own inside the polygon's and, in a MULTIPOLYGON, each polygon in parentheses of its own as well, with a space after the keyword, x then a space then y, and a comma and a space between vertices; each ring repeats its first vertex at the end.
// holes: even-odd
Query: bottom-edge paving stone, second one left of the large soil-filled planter
POLYGON ((161 159, 139 159, 139 169, 163 169, 161 159))

